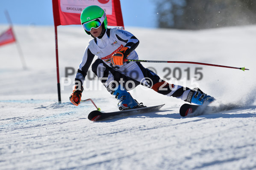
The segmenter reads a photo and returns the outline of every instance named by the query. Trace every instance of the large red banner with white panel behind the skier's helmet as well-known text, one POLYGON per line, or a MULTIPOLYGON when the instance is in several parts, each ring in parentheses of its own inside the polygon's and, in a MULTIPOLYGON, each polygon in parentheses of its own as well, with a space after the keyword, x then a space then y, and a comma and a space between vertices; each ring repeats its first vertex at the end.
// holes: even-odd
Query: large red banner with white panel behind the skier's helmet
POLYGON ((91 5, 104 9, 109 26, 124 26, 120 0, 53 0, 54 25, 81 24, 82 10, 91 5))

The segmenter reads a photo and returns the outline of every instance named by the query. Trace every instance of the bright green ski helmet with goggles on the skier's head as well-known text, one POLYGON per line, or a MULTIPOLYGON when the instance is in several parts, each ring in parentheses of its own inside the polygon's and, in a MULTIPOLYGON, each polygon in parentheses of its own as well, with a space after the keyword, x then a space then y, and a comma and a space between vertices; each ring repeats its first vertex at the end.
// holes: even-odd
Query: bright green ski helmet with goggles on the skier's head
POLYGON ((108 26, 106 13, 99 6, 86 7, 84 10, 82 10, 80 20, 83 29, 85 29, 85 32, 88 35, 91 35, 90 31, 92 28, 98 28, 103 25, 102 31, 105 32, 108 26))

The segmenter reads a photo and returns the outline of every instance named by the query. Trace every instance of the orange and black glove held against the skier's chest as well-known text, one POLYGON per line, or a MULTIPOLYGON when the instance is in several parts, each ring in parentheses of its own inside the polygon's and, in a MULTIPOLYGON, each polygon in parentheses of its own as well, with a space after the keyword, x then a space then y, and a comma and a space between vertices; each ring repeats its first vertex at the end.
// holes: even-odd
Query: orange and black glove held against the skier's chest
POLYGON ((127 56, 130 55, 130 49, 128 47, 123 47, 119 52, 116 52, 111 57, 111 62, 113 66, 115 65, 123 65, 124 60, 127 60, 127 56))

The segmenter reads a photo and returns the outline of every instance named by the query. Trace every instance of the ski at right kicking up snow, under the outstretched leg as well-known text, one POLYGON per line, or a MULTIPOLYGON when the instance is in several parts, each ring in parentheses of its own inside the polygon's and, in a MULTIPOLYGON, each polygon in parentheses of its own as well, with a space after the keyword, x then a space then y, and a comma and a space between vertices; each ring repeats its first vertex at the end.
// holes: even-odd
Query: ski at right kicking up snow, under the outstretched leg
POLYGON ((179 109, 179 114, 182 117, 203 115, 204 113, 214 113, 221 112, 230 109, 235 109, 240 107, 237 104, 221 104, 219 106, 209 106, 209 105, 193 105, 193 104, 183 104, 179 109))

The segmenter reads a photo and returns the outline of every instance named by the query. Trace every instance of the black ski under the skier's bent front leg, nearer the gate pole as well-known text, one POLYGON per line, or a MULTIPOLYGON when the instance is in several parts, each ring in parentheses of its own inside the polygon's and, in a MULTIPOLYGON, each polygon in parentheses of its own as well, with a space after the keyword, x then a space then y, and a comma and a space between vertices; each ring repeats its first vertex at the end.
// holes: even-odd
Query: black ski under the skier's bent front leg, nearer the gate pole
POLYGON ((164 105, 165 104, 158 105, 158 106, 152 106, 152 107, 141 107, 141 108, 137 108, 137 109, 128 109, 128 110, 121 110, 121 111, 117 111, 117 112, 106 112, 106 113, 100 112, 98 110, 94 110, 89 113, 88 119, 90 121, 102 121, 102 120, 107 120, 107 119, 111 119, 111 118, 153 112, 153 111, 159 110, 164 105))

